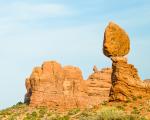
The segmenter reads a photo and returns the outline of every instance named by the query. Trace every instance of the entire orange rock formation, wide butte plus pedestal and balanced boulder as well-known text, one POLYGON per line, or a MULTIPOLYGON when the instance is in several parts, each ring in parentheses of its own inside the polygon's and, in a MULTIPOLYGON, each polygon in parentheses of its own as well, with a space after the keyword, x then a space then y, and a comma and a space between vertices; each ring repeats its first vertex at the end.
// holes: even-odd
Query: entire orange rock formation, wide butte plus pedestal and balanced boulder
POLYGON ((26 79, 25 103, 57 110, 89 108, 104 100, 126 101, 138 96, 150 96, 150 80, 142 81, 137 69, 127 63, 130 41, 125 31, 109 23, 104 33, 103 52, 112 60, 112 68, 93 67, 83 80, 78 67, 64 66, 56 61, 44 62, 33 69, 26 79))

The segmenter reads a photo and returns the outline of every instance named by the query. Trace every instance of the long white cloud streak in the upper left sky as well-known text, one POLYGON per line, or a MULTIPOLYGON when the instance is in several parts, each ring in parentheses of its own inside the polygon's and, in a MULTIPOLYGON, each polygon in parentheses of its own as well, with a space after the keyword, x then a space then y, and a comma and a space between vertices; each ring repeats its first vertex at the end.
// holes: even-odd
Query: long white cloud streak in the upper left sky
POLYGON ((70 14, 70 10, 63 4, 13 3, 0 5, 0 18, 3 21, 32 20, 68 14, 70 14))

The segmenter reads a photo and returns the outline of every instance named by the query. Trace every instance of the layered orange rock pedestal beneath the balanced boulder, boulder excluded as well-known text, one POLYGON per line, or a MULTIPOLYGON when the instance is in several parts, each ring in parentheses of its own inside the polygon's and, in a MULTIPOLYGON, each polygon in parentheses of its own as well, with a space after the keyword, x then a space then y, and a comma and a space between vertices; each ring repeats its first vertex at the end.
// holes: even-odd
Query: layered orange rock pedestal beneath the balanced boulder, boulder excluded
POLYGON ((133 97, 145 95, 145 85, 140 79, 137 69, 128 64, 124 57, 113 57, 112 61, 110 101, 127 101, 133 97))

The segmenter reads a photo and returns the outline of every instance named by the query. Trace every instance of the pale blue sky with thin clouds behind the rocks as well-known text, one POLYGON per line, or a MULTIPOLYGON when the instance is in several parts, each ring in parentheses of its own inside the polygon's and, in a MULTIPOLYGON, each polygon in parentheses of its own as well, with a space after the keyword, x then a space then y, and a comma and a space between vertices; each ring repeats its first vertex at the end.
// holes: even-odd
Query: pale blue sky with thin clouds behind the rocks
POLYGON ((25 78, 44 61, 79 66, 85 79, 93 65, 111 67, 102 53, 109 21, 129 33, 129 63, 150 78, 149 11, 149 0, 0 0, 0 109, 23 101, 25 78))

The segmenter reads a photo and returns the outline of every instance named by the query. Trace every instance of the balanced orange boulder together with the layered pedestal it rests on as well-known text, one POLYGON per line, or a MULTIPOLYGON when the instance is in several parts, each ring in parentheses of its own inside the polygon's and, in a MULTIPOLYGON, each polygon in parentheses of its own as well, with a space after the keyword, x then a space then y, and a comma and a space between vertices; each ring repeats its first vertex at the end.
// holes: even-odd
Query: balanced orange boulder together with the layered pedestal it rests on
POLYGON ((127 63, 124 56, 130 50, 127 33, 115 23, 110 22, 104 34, 103 52, 112 60, 112 87, 110 101, 126 101, 133 97, 146 96, 150 93, 140 79, 137 69, 127 63))

